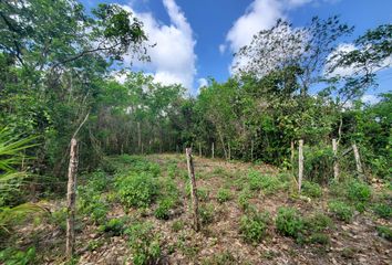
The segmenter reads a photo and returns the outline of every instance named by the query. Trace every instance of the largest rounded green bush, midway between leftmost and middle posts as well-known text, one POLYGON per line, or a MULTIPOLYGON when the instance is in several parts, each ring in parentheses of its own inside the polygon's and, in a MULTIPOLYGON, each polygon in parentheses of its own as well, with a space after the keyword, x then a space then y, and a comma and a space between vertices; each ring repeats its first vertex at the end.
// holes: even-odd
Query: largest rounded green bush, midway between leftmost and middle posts
POLYGON ((157 186, 154 176, 147 172, 134 173, 118 178, 116 188, 120 201, 125 206, 147 208, 157 194, 157 186))

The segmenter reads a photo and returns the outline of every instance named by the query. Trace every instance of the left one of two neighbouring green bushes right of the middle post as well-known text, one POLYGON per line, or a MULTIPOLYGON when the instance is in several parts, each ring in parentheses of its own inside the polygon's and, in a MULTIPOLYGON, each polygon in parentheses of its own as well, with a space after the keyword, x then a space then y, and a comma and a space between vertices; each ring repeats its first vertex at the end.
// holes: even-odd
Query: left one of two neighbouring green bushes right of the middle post
POLYGON ((266 235, 269 223, 268 212, 252 212, 244 215, 239 224, 239 233, 247 243, 258 243, 266 235))

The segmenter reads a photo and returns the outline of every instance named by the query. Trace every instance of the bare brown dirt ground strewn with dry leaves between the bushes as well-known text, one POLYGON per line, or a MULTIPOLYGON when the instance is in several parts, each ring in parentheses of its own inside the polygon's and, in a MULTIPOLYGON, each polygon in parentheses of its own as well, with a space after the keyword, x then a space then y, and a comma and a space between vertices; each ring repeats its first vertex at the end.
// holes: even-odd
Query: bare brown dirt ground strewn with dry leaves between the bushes
MULTIPOLYGON (((180 173, 186 173, 186 161, 178 155, 154 155, 147 157, 166 167, 168 161, 176 161, 180 173)), ((185 194, 186 178, 177 177, 175 181, 182 191, 183 204, 173 212, 168 221, 154 218, 152 212, 146 212, 143 219, 155 225, 155 232, 161 235, 164 250, 161 264, 217 264, 214 256, 230 253, 235 258, 231 264, 392 264, 392 243, 380 237, 376 225, 391 225, 391 222, 375 218, 371 212, 355 212, 351 223, 333 220, 334 227, 330 231, 330 244, 298 244, 295 240, 280 235, 272 222, 269 225, 267 236, 261 243, 251 245, 244 242, 238 232, 239 220, 244 214, 239 208, 237 198, 239 190, 236 179, 245 176, 249 168, 267 174, 277 174, 278 170, 267 165, 254 166, 243 162, 226 162, 220 159, 207 159, 195 157, 195 172, 197 187, 209 191, 207 202, 214 205, 214 221, 204 225, 196 233, 192 229, 192 215, 189 199, 185 194), (224 203, 218 203, 216 192, 219 188, 228 188, 233 198, 224 203), (185 226, 179 231, 173 231, 173 223, 182 221, 185 226)), ((165 170, 162 170, 165 173, 165 170)), ((374 188, 378 189, 378 188, 374 188)), ((261 192, 250 200, 258 210, 270 212, 272 219, 279 206, 293 206, 303 215, 316 211, 328 214, 327 192, 320 199, 293 198, 287 191, 272 194, 261 192)), ((202 202, 207 203, 207 202, 202 202)), ((62 203, 48 202, 48 208, 59 208, 62 203)), ((111 218, 136 214, 135 210, 125 212, 120 204, 113 205, 111 218)), ((83 223, 83 220, 80 220, 83 223)), ((24 227, 29 230, 29 227, 24 227)), ((63 252, 63 234, 54 226, 39 227, 42 233, 37 239, 41 247, 48 253, 63 252)), ((24 233, 20 230, 19 233, 24 233)), ((126 236, 107 237, 96 232, 94 225, 85 225, 78 233, 76 253, 80 255, 79 264, 132 264, 132 253, 126 242, 126 236), (87 245, 96 244, 93 251, 87 245)), ((49 257, 45 264, 61 263, 49 257)))

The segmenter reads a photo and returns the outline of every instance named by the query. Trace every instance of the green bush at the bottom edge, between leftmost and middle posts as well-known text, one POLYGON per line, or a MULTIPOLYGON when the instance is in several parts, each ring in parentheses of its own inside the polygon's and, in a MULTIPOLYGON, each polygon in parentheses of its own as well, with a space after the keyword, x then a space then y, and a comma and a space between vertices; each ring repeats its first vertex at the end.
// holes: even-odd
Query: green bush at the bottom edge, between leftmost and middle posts
POLYGON ((125 232, 135 265, 156 264, 161 257, 159 239, 151 223, 136 223, 125 232))

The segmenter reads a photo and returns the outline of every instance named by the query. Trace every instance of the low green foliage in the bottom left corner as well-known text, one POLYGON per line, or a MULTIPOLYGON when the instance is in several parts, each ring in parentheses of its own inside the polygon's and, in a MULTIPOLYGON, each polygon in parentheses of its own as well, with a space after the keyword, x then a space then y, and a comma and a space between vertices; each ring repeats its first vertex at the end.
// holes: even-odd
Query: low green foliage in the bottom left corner
POLYGON ((0 251, 0 262, 4 265, 29 265, 35 262, 35 248, 30 247, 27 251, 6 248, 0 251))

